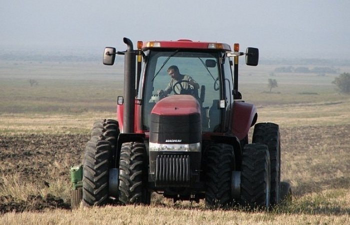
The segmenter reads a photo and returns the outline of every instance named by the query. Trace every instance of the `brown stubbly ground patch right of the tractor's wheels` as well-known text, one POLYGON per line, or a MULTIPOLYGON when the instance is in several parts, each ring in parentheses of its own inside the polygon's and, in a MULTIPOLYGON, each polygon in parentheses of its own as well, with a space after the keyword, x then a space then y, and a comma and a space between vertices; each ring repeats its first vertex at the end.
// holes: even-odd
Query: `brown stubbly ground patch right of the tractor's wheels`
POLYGON ((282 178, 294 194, 350 188, 350 125, 282 128, 281 138, 282 178))

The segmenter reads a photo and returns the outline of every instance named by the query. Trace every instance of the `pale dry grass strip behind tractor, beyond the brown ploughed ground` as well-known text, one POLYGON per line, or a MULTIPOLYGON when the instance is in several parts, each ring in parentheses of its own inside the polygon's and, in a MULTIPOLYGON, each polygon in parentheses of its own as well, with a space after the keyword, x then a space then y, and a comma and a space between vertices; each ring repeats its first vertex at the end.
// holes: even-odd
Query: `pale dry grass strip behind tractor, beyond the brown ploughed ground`
MULTIPOLYGON (((336 102, 281 104, 258 107, 258 122, 272 121, 280 127, 329 126, 350 124, 350 99, 336 102)), ((101 117, 115 118, 114 112, 82 113, 2 113, 0 132, 88 133, 101 117)))

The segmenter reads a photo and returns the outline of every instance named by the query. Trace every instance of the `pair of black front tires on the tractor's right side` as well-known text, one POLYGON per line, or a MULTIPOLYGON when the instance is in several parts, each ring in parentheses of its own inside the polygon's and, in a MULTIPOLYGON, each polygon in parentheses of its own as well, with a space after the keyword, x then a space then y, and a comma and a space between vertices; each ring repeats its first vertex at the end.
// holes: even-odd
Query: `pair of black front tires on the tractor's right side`
POLYGON ((233 147, 213 143, 204 152, 205 203, 208 208, 229 208, 233 204, 248 208, 270 204, 270 158, 265 144, 246 144, 242 152, 240 198, 231 195, 235 170, 233 147))

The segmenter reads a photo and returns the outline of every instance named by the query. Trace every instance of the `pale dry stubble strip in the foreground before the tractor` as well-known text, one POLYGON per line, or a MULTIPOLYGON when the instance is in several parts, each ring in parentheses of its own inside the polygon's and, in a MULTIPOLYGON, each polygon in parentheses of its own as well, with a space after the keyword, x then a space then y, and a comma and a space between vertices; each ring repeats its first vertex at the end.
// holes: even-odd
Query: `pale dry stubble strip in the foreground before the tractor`
POLYGON ((7 213, 1 224, 348 224, 348 215, 305 215, 177 209, 159 206, 106 206, 76 211, 7 213))

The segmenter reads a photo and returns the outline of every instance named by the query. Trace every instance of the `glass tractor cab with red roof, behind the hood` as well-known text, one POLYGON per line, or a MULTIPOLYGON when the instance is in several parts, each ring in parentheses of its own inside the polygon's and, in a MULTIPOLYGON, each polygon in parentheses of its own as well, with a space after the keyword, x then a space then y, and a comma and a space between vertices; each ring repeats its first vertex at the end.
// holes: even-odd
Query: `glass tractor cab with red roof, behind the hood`
MULTIPOLYGON (((228 44, 177 41, 149 41, 142 44, 143 76, 137 98, 141 102, 140 127, 149 130, 154 105, 169 95, 189 94, 200 105, 202 132, 227 132, 234 100, 232 55, 228 44), (176 66, 180 78, 173 79, 168 69, 176 66), (188 83, 192 79, 197 88, 188 83), (169 94, 160 91, 171 87, 169 94)), ((238 91, 235 91, 238 92, 238 91)), ((180 99, 181 101, 181 99, 180 99)))

